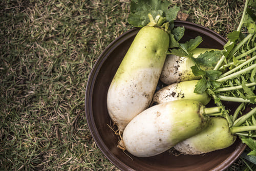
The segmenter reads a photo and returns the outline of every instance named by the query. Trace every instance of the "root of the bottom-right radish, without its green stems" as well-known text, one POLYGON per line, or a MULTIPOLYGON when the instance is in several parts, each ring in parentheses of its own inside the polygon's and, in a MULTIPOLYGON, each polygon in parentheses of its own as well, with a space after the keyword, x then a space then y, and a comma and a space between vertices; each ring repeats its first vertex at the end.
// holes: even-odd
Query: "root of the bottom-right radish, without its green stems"
POLYGON ((225 118, 212 117, 202 132, 178 143, 174 148, 183 154, 199 155, 226 148, 232 145, 236 138, 225 118))

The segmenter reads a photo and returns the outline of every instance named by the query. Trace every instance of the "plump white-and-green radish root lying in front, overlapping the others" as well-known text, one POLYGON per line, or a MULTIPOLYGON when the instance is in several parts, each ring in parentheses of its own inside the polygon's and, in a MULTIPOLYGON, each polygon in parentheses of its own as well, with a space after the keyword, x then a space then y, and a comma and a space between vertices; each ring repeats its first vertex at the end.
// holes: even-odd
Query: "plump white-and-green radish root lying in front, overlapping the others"
POLYGON ((204 111, 202 103, 188 99, 154 105, 125 127, 120 144, 137 157, 158 155, 201 132, 208 120, 204 111))

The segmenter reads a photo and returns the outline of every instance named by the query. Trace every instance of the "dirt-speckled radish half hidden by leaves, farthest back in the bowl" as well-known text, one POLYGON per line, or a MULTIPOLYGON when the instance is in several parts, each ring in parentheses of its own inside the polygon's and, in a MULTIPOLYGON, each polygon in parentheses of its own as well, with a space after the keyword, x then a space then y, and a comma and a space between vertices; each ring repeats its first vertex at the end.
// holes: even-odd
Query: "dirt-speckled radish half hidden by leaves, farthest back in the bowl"
MULTIPOLYGON (((210 50, 218 50, 218 49, 208 49, 208 48, 196 48, 191 51, 193 53, 193 57, 197 58, 201 53, 205 53, 210 50)), ((165 63, 163 66, 162 73, 160 75, 160 80, 166 85, 200 79, 201 76, 195 76, 192 72, 191 67, 195 66, 193 60, 189 57, 180 57, 176 55, 167 55, 165 59, 165 63)), ((202 70, 211 70, 213 67, 205 67, 200 66, 202 70)))

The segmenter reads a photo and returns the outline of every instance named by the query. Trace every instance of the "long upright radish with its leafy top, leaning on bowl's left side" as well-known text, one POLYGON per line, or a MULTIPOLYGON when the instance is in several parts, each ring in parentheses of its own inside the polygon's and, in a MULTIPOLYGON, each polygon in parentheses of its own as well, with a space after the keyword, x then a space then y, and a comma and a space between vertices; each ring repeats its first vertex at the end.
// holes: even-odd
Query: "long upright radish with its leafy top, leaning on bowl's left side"
POLYGON ((179 11, 168 8, 168 1, 156 1, 131 2, 129 23, 142 28, 121 61, 107 94, 109 115, 121 133, 150 106, 169 48, 169 26, 179 11))

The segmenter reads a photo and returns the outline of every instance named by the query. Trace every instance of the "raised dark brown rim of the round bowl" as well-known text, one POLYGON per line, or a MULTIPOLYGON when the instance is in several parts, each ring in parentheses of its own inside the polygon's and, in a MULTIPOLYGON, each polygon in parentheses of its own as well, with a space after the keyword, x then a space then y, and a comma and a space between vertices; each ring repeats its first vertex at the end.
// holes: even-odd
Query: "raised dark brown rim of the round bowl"
MULTIPOLYGON (((174 21, 175 27, 178 26, 184 26, 186 29, 189 30, 200 30, 201 33, 207 33, 207 34, 211 34, 213 35, 216 39, 219 40, 219 42, 221 42, 221 44, 223 44, 223 46, 226 44, 227 39, 224 38, 223 36, 221 36, 220 34, 216 33, 213 30, 210 30, 209 28, 206 28, 202 25, 199 24, 195 24, 195 23, 191 23, 191 22, 186 22, 186 21, 180 21, 180 20, 175 20, 174 21)), ((87 86, 86 86, 86 94, 85 94, 85 111, 86 111, 86 120, 87 120, 87 124, 89 127, 89 130, 91 132, 91 135, 97 145, 97 147, 100 149, 100 151, 103 153, 103 155, 115 166, 117 166, 119 169, 121 170, 134 170, 132 168, 130 168, 129 166, 125 165, 124 163, 122 163, 122 161, 120 161, 115 155, 113 155, 111 153, 111 151, 109 150, 109 148, 105 145, 104 141, 102 140, 101 137, 99 137, 99 132, 98 129, 96 127, 96 123, 94 121, 94 117, 93 115, 90 115, 90 113, 92 113, 92 102, 90 102, 89 97, 92 97, 93 94, 93 87, 95 84, 95 80, 96 80, 96 76, 97 72, 98 72, 98 68, 100 68, 104 61, 106 60, 106 57, 104 56, 108 56, 106 54, 110 53, 110 47, 115 47, 117 46, 116 44, 118 43, 118 45, 125 41, 127 38, 136 35, 137 32, 139 31, 140 28, 132 28, 124 33, 122 33, 120 36, 118 36, 117 38, 115 38, 104 50, 103 52, 100 54, 100 56, 98 57, 98 59, 96 60, 90 74, 88 77, 88 81, 87 81, 87 86)), ((112 48, 113 49, 113 48, 112 48)), ((212 168, 212 170, 225 170, 226 168, 229 167, 230 163, 233 163, 235 160, 237 160, 237 158, 243 153, 243 151, 246 148, 246 144, 240 145, 239 148, 237 148, 229 157, 228 159, 224 160, 222 163, 220 163, 219 165, 217 165, 216 167, 212 168)))

